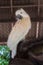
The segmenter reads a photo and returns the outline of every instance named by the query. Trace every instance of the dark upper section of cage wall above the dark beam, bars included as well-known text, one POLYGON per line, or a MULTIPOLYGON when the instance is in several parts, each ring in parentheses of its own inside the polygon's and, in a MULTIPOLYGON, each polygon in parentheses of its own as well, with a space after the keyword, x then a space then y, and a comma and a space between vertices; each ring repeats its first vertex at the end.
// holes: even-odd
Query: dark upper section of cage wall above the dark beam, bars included
POLYGON ((43 17, 43 0, 0 0, 0 19, 9 19, 19 8, 27 9, 29 15, 35 20, 39 15, 43 17))

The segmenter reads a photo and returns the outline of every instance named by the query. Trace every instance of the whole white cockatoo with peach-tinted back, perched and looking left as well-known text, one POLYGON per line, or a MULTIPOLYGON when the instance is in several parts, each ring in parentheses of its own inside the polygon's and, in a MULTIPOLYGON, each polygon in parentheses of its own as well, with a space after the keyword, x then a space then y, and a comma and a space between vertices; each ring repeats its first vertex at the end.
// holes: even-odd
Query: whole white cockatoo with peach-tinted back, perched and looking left
POLYGON ((7 40, 7 45, 12 51, 12 58, 16 55, 18 43, 25 39, 25 36, 31 29, 30 16, 24 11, 24 9, 21 8, 17 10, 15 15, 17 17, 17 22, 13 26, 7 40))

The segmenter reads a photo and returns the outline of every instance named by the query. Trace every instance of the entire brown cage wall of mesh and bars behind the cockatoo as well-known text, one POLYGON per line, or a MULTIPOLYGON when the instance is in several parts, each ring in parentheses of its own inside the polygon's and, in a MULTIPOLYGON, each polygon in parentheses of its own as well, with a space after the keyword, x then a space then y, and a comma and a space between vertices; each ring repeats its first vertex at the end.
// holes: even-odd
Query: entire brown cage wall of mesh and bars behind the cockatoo
POLYGON ((31 17, 32 27, 26 39, 43 38, 43 0, 0 0, 0 44, 7 44, 15 24, 15 11, 20 8, 31 17))

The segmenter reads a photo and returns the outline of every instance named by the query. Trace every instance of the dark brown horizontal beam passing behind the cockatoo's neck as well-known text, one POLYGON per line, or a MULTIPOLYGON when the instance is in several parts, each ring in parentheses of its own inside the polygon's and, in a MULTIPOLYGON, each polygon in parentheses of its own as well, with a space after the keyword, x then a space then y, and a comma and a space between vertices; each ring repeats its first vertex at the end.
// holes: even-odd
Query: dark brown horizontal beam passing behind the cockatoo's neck
MULTIPOLYGON (((36 18, 31 18, 32 22, 43 22, 43 17, 36 17, 36 18)), ((15 17, 11 17, 10 19, 0 19, 0 22, 16 22, 15 17)))

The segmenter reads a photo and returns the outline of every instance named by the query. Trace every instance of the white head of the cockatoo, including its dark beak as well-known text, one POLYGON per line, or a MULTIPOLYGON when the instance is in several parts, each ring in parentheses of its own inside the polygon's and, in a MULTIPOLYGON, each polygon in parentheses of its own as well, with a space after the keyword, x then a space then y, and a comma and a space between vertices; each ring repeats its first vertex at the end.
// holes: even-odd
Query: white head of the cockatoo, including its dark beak
POLYGON ((16 19, 22 19, 24 17, 29 17, 29 15, 25 12, 24 9, 19 9, 15 12, 16 19))

